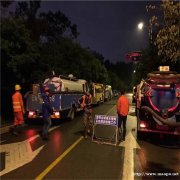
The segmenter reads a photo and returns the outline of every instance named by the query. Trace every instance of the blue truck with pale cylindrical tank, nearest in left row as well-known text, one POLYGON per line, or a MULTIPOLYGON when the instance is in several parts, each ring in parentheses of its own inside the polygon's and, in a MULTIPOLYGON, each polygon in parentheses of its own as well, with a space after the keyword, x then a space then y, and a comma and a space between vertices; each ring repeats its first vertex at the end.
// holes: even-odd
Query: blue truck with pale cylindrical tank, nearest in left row
POLYGON ((51 76, 42 84, 33 84, 32 91, 26 95, 27 120, 42 118, 42 93, 44 87, 50 89, 50 100, 53 107, 51 119, 74 119, 75 113, 81 111, 78 100, 88 90, 86 80, 76 79, 72 75, 51 76))

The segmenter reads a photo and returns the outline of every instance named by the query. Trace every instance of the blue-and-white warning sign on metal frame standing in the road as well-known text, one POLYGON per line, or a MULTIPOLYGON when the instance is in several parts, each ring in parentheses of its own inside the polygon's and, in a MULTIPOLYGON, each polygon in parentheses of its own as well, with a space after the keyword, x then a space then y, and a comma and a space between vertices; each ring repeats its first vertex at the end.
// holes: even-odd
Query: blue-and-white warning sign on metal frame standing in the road
POLYGON ((119 133, 117 116, 95 115, 92 134, 93 142, 117 145, 119 133))

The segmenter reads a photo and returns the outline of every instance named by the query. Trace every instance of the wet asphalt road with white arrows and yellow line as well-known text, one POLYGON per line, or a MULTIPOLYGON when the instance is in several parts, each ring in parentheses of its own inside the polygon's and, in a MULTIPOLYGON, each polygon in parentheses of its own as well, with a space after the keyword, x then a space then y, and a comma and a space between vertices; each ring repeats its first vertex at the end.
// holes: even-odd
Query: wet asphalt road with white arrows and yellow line
MULTIPOLYGON (((131 102, 131 95, 129 94, 131 102)), ((93 114, 116 116, 116 101, 94 107, 93 114)), ((38 134, 41 123, 23 128, 15 137, 1 135, 2 179, 179 179, 180 151, 172 137, 137 141, 136 117, 131 104, 126 140, 118 146, 83 138, 82 115, 54 123, 49 141, 38 134)), ((111 137, 114 127, 101 126, 96 135, 111 137), (99 134, 98 134, 99 133, 99 134)), ((106 141, 107 142, 107 141, 106 141)))

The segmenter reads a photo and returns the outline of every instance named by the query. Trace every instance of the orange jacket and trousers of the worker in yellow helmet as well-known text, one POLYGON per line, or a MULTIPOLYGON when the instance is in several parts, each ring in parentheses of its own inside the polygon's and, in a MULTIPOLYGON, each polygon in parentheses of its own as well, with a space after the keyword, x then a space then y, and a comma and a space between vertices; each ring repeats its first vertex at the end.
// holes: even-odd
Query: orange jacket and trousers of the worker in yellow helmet
POLYGON ((23 113, 24 105, 22 95, 19 91, 16 91, 12 96, 12 104, 14 110, 14 125, 20 125, 24 123, 23 113))

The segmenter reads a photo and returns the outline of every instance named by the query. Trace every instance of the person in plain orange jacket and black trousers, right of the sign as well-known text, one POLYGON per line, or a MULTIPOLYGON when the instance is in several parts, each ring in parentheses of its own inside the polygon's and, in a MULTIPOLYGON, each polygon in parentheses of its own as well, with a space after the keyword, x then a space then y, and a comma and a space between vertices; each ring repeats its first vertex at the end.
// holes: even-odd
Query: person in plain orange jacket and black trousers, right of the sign
POLYGON ((125 91, 121 90, 120 97, 117 102, 117 114, 118 114, 118 127, 121 128, 121 124, 123 123, 123 138, 125 141, 126 136, 126 120, 129 112, 129 100, 125 96, 125 91))

